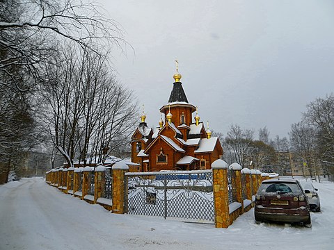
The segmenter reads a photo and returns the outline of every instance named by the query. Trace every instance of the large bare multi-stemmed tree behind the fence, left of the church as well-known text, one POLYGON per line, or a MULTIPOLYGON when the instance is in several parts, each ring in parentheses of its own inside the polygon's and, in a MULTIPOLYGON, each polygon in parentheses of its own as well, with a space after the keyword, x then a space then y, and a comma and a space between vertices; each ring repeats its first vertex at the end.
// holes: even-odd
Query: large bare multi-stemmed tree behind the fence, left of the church
POLYGON ((136 99, 109 73, 106 57, 69 47, 56 60, 45 81, 43 122, 69 165, 75 158, 84 165, 102 162, 102 155, 128 142, 136 99))

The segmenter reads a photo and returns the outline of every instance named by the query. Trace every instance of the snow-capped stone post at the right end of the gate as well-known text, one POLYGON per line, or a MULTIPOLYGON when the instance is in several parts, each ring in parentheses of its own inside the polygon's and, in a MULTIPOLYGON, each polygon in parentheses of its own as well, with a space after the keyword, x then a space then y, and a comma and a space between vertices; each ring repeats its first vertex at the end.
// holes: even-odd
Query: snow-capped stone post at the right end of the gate
POLYGON ((228 207, 228 164, 218 159, 211 165, 214 185, 214 208, 216 228, 230 226, 230 211, 228 207))

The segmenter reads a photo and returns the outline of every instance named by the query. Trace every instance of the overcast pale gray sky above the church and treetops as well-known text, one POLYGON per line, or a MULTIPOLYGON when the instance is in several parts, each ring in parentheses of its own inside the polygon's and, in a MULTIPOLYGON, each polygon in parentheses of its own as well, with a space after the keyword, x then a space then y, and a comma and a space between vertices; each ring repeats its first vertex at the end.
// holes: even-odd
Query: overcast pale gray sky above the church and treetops
POLYGON ((134 47, 113 63, 150 126, 175 59, 189 102, 224 135, 239 124, 287 136, 307 103, 333 92, 334 1, 97 1, 134 47))

